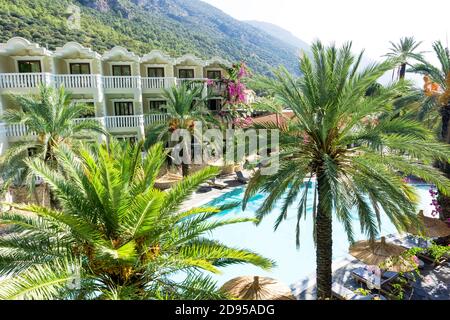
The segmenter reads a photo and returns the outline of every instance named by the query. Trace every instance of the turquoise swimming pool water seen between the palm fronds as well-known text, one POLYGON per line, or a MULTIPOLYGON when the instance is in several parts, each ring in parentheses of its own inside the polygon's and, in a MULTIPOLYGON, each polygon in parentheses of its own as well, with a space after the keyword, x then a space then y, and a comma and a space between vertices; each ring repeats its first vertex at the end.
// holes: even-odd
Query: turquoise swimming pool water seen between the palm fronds
MULTIPOLYGON (((424 210, 425 213, 431 212, 431 197, 429 195, 428 185, 415 185, 420 195, 421 201, 418 210, 424 210)), ((244 188, 238 188, 224 194, 223 196, 210 202, 209 205, 221 205, 230 202, 241 201, 244 194, 244 188)), ((223 215, 228 218, 236 217, 254 217, 254 213, 264 200, 264 194, 254 196, 245 211, 240 207, 225 211, 223 215)), ((311 202, 308 211, 312 212, 312 194, 308 197, 311 202)), ((286 284, 293 284, 315 272, 315 249, 312 238, 312 217, 307 217, 301 221, 300 227, 300 249, 295 246, 295 227, 296 227, 296 209, 294 204, 290 208, 287 220, 283 221, 277 231, 273 230, 273 225, 278 216, 279 207, 275 207, 273 212, 268 215, 260 225, 255 226, 253 223, 242 223, 225 226, 217 229, 212 234, 212 238, 222 241, 223 243, 251 249, 257 253, 264 255, 276 261, 277 266, 265 272, 260 268, 250 265, 235 265, 222 268, 223 273, 214 275, 219 285, 224 282, 242 275, 260 275, 269 276, 283 281, 286 284)), ((355 239, 365 239, 361 234, 359 222, 357 219, 353 221, 355 239)), ((381 220, 381 235, 397 233, 395 227, 389 221, 386 215, 381 220)), ((343 258, 348 251, 347 236, 342 225, 333 221, 333 260, 343 258)))

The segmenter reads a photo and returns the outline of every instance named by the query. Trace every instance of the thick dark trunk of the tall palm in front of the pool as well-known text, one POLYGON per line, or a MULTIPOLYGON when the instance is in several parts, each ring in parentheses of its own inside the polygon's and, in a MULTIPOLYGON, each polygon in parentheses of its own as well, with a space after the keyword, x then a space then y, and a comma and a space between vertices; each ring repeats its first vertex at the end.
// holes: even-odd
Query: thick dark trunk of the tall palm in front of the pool
POLYGON ((325 181, 318 176, 318 209, 316 217, 316 277, 317 298, 320 300, 331 298, 332 285, 332 212, 331 206, 325 203, 325 181))

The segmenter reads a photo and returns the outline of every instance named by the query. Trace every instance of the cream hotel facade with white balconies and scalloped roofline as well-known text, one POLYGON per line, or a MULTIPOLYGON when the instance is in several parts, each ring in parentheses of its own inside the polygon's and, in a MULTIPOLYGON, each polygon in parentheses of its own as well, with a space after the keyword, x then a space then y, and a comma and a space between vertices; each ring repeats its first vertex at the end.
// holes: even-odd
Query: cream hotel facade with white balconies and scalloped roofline
MULTIPOLYGON (((69 42, 50 51, 15 37, 0 43, 0 114, 14 109, 12 95, 37 93, 41 84, 64 85, 75 102, 92 104, 95 118, 115 136, 140 139, 144 128, 165 117, 163 90, 188 82, 210 90, 208 107, 218 110, 225 91, 220 79, 230 63, 214 57, 171 57, 153 50, 138 56, 122 47, 103 55, 69 42), (212 94, 211 94, 212 93, 212 94)), ((0 155, 11 143, 30 138, 22 125, 0 123, 0 155)))

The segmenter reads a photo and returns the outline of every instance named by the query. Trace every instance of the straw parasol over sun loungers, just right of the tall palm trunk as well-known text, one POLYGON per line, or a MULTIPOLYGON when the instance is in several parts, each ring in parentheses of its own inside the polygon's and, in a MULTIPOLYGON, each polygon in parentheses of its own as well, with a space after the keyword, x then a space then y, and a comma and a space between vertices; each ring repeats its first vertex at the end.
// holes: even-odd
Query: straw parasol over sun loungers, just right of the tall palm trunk
POLYGON ((367 265, 381 266, 385 270, 408 272, 417 268, 416 262, 400 257, 407 249, 387 243, 385 237, 380 241, 358 241, 350 246, 349 252, 367 265))

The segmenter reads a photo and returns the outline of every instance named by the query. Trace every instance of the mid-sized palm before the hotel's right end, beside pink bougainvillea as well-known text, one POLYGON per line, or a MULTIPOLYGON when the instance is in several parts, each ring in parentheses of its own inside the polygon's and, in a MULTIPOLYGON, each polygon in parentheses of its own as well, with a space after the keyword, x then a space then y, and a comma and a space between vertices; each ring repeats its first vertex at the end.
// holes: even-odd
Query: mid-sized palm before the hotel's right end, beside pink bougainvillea
MULTIPOLYGON (((152 125, 147 129, 145 146, 159 142, 166 142, 169 147, 173 147, 171 134, 177 129, 188 130, 194 134, 195 122, 201 122, 205 126, 217 125, 217 121, 206 107, 207 97, 203 96, 203 87, 183 84, 164 90, 163 98, 167 101, 163 107, 168 115, 167 121, 152 125)), ((183 141, 186 142, 186 141, 183 141)), ((190 150, 190 146, 185 146, 184 150, 190 150)), ((183 176, 189 175, 189 164, 182 163, 183 176)))

